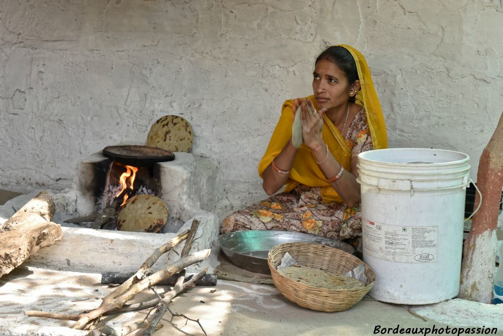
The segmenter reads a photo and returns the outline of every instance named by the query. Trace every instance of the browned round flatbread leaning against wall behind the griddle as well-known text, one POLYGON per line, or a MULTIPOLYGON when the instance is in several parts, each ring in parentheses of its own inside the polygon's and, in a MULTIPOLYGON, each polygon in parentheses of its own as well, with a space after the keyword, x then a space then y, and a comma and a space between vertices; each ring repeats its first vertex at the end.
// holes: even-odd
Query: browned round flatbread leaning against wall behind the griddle
POLYGON ((147 146, 172 152, 188 152, 194 142, 194 132, 187 120, 180 116, 164 116, 150 127, 147 146))

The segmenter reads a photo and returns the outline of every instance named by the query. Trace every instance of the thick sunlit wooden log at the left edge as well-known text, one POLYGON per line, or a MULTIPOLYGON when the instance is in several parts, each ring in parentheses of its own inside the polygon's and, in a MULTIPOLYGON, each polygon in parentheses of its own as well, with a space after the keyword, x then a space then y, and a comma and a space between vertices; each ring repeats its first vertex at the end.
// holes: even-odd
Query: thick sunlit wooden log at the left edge
POLYGON ((61 225, 50 221, 54 211, 52 197, 43 191, 0 226, 0 277, 61 239, 61 225))

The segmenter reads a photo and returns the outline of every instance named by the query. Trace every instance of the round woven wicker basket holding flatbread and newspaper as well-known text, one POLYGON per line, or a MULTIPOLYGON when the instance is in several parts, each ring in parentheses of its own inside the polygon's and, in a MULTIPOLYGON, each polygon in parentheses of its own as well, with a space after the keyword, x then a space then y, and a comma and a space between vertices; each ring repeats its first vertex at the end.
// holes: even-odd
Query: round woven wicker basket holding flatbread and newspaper
POLYGON ((269 251, 267 263, 274 285, 287 299, 299 306, 313 310, 343 311, 358 303, 372 289, 376 276, 363 263, 367 284, 358 289, 326 289, 296 282, 281 275, 276 268, 288 252, 299 265, 318 268, 331 273, 345 274, 363 262, 345 251, 322 244, 294 242, 274 246, 269 251))

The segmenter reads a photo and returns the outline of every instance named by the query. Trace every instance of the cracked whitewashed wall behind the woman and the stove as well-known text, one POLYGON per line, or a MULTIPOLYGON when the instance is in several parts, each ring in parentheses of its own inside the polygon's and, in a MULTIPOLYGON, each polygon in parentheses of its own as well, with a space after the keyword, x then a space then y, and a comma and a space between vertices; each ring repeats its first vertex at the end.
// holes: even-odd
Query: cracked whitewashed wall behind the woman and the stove
POLYGON ((499 0, 6 0, 0 188, 67 187, 80 160, 175 114, 218 166, 222 209, 265 198, 258 161, 326 43, 367 57, 391 147, 466 152, 476 177, 503 106, 502 28, 499 0))

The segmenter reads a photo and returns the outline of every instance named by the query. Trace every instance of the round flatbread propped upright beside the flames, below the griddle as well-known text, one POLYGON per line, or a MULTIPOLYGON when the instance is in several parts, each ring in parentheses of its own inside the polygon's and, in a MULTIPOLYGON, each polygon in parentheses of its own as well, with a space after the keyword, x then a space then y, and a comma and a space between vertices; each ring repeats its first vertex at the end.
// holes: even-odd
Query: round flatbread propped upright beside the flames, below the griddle
POLYGON ((118 215, 121 231, 158 232, 166 223, 169 210, 153 195, 136 195, 126 202, 118 215))

